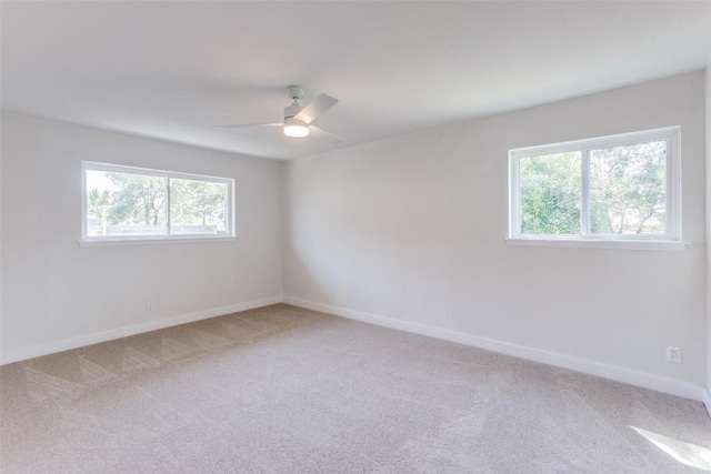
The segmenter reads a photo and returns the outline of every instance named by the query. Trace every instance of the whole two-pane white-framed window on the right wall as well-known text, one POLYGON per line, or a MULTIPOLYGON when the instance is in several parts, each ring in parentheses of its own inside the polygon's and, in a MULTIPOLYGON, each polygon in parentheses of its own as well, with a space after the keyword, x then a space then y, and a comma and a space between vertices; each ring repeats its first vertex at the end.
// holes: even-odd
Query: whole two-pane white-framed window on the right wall
POLYGON ((679 135, 674 127, 509 151, 509 240, 681 245, 679 135))

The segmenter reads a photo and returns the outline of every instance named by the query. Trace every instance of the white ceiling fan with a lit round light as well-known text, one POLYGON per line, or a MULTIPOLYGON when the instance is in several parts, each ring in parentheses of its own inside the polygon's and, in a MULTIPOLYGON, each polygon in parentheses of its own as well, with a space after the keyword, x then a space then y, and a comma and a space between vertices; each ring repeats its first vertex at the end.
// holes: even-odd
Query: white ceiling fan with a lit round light
POLYGON ((306 89, 302 85, 289 85, 287 88, 289 92, 289 99, 293 100, 293 103, 284 109, 284 121, 273 123, 248 123, 236 125, 219 125, 232 129, 250 128, 250 127, 283 127, 284 135, 291 138, 304 138, 304 137, 319 137, 327 138, 333 141, 343 141, 340 137, 334 135, 331 132, 327 132, 320 129, 311 122, 313 122, 323 112, 336 105, 338 99, 328 94, 320 94, 313 101, 306 105, 301 104, 301 100, 304 97, 306 89))

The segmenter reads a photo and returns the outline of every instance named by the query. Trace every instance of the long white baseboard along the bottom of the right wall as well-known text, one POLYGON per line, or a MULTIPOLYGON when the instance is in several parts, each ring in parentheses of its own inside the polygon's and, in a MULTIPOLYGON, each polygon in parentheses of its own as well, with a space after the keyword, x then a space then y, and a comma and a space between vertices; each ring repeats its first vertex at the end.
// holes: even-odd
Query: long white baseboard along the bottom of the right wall
MULTIPOLYGON (((698 402, 704 400, 704 390, 701 386, 697 386, 688 382, 681 382, 673 379, 653 375, 645 372, 633 371, 630 369, 603 364, 587 359, 579 359, 572 355, 559 354, 555 352, 543 351, 540 349, 528 347, 519 344, 512 344, 509 342, 480 337, 459 331, 452 331, 425 324, 394 320, 392 317, 380 316, 377 314, 369 314, 360 311, 331 306, 329 304, 316 303, 313 301, 301 300, 298 297, 286 296, 283 299, 283 302, 294 306, 304 307, 307 310, 321 311, 323 313, 334 314, 351 320, 458 342, 460 344, 485 349, 501 354, 513 355, 515 357, 528 359, 530 361, 569 369, 590 375, 597 375, 617 382, 623 382, 630 385, 637 385, 643 389, 668 393, 670 395, 682 396, 684 399, 690 399, 698 402)), ((711 403, 707 402, 707 407, 709 406, 711 406, 711 403)))

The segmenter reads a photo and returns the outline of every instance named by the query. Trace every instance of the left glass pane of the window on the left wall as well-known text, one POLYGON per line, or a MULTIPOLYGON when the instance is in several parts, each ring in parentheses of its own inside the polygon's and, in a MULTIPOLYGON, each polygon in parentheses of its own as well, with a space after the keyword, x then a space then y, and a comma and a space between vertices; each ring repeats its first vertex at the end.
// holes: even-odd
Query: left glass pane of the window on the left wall
POLYGON ((87 235, 167 235, 166 180, 87 170, 87 235))

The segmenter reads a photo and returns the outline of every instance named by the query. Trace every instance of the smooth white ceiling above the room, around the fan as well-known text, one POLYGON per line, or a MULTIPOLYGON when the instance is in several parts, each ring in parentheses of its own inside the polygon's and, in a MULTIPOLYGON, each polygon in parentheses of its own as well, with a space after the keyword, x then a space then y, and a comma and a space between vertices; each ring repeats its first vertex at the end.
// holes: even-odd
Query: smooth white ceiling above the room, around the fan
POLYGON ((711 2, 0 3, 3 109, 267 158, 284 88, 339 147, 701 69, 711 2))

